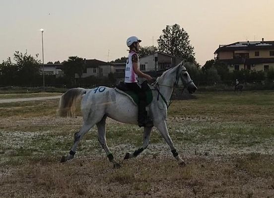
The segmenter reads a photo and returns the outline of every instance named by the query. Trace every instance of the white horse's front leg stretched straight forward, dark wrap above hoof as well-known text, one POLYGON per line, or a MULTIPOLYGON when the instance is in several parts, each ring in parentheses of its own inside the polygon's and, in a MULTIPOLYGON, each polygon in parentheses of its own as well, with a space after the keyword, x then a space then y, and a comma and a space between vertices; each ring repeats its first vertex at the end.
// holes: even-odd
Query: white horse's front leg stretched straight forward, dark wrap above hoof
POLYGON ((161 135, 164 137, 165 141, 167 142, 167 144, 169 145, 169 147, 171 149, 173 156, 178 160, 179 165, 185 166, 186 165, 185 161, 178 154, 178 152, 173 144, 173 141, 172 141, 171 137, 169 136, 165 120, 161 120, 160 122, 154 123, 154 126, 159 130, 161 135))

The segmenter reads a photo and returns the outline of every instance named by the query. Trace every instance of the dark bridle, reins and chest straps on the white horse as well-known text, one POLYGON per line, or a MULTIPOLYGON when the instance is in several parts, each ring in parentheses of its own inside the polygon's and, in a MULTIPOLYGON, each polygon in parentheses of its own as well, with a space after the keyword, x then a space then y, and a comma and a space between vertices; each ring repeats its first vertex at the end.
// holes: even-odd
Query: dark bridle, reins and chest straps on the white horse
MULTIPOLYGON (((169 101, 169 104, 167 104, 167 101, 166 101, 165 97, 164 97, 163 94, 161 94, 161 92, 160 92, 160 86, 165 86, 165 87, 171 87, 171 88, 173 88, 172 93, 171 93, 171 97, 172 97, 173 92, 174 92, 174 87, 178 87, 179 79, 181 79, 181 81, 183 82, 183 85, 184 85, 184 88, 183 88, 183 89, 185 89, 190 83, 193 82, 193 80, 190 80, 190 81, 188 81, 188 82, 185 82, 185 80, 183 80, 181 74, 179 74, 179 70, 180 70, 180 67, 178 67, 177 70, 176 70, 176 79, 175 79, 175 82, 174 82, 174 85, 173 85, 173 86, 164 85, 164 84, 159 84, 157 81, 156 81, 155 84, 154 84, 155 90, 158 92, 157 101, 159 100, 159 96, 161 96, 161 98, 163 99, 163 101, 164 101, 165 104, 166 104, 167 109, 169 108, 169 106, 170 106, 170 104, 171 104, 171 100, 169 101)), ((187 69, 183 69, 183 70, 181 70, 181 72, 182 72, 182 71, 187 71, 187 69)), ((180 72, 180 73, 181 73, 181 72, 180 72)), ((170 97, 170 98, 171 98, 171 97, 170 97)))

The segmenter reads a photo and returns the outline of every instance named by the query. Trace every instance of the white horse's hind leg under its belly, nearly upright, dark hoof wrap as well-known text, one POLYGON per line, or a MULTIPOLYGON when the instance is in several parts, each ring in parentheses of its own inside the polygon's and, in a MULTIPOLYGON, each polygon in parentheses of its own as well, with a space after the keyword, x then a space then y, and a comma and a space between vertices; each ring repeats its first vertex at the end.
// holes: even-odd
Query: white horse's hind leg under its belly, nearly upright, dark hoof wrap
POLYGON ((111 153, 106 140, 106 116, 103 117, 103 119, 96 124, 98 129, 98 140, 100 144, 102 145, 103 149, 105 150, 107 157, 109 158, 109 161, 113 163, 114 168, 120 168, 121 164, 119 164, 115 159, 113 154, 111 153))

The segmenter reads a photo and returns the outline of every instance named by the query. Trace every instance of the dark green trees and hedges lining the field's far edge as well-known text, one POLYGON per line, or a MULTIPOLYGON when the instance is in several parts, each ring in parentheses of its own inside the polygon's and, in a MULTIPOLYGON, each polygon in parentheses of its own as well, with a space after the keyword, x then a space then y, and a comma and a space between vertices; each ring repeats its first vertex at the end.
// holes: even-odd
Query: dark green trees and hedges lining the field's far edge
MULTIPOLYGON (((194 47, 190 44, 189 34, 181 28, 180 25, 167 25, 162 30, 157 40, 158 47, 144 46, 140 47, 139 57, 151 55, 157 51, 161 51, 176 57, 185 59, 194 63, 188 69, 191 77, 196 83, 206 82, 214 83, 231 83, 235 79, 244 82, 274 80, 274 71, 270 69, 267 73, 264 71, 239 70, 229 72, 225 63, 215 60, 209 60, 204 66, 196 63, 194 47)), ((35 57, 28 55, 27 51, 22 54, 15 51, 12 63, 11 58, 7 58, 0 64, 0 86, 4 85, 41 85, 43 83, 43 73, 41 70, 41 61, 38 55, 35 57)), ((125 63, 126 57, 121 57, 110 63, 125 63)), ((56 64, 60 63, 55 62, 56 64)), ((52 64, 52 62, 49 62, 52 64)), ((115 83, 113 73, 107 78, 89 76, 82 78, 86 65, 83 58, 71 56, 67 61, 62 62, 63 76, 45 75, 46 84, 67 84, 71 86, 80 84, 98 84, 98 83, 115 83), (75 74, 78 78, 75 78, 75 74)))

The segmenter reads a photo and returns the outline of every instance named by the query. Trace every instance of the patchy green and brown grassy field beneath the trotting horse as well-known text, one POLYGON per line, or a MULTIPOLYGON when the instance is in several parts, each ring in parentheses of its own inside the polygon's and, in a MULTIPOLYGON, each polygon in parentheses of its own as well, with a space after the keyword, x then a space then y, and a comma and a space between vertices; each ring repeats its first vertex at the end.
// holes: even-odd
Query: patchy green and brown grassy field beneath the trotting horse
POLYGON ((96 127, 75 158, 61 164, 81 127, 79 112, 57 117, 58 100, 0 104, 0 197, 273 198, 274 92, 195 96, 169 109, 168 129, 184 168, 154 129, 148 149, 123 162, 142 144, 142 130, 110 119, 107 141, 122 168, 112 168, 96 127))

